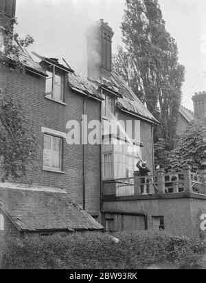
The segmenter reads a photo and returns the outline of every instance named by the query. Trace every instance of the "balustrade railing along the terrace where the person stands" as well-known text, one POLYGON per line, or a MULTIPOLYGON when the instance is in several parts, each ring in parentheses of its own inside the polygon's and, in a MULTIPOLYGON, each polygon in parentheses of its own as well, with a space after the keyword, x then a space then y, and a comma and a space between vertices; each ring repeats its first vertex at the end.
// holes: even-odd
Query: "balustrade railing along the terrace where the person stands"
POLYGON ((201 175, 191 172, 188 166, 181 172, 165 173, 163 169, 159 169, 155 175, 148 176, 140 176, 139 172, 134 172, 134 177, 117 179, 116 182, 116 196, 181 192, 206 194, 201 175))

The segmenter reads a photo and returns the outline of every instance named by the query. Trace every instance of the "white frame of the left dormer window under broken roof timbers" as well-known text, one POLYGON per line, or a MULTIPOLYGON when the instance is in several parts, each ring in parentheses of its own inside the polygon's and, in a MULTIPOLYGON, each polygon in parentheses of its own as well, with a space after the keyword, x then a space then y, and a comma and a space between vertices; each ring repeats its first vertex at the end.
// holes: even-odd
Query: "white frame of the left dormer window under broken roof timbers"
POLYGON ((45 98, 48 98, 50 100, 54 100, 56 102, 61 102, 62 104, 64 104, 64 100, 65 100, 65 75, 63 73, 61 73, 58 70, 58 67, 56 67, 55 65, 53 65, 53 69, 52 71, 47 70, 49 73, 52 73, 52 91, 50 92, 46 92, 47 91, 47 80, 49 80, 49 78, 46 78, 46 84, 45 84, 45 98), (60 100, 55 98, 55 75, 56 76, 60 76, 60 100))

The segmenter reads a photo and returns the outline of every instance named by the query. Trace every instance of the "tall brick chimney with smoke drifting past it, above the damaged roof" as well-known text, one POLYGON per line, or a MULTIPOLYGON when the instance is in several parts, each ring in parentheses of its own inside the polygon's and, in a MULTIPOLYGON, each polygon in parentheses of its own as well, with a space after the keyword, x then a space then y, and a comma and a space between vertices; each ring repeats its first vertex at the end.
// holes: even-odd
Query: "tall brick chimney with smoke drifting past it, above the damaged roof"
POLYGON ((87 76, 90 80, 111 80, 113 35, 103 19, 87 29, 87 76))

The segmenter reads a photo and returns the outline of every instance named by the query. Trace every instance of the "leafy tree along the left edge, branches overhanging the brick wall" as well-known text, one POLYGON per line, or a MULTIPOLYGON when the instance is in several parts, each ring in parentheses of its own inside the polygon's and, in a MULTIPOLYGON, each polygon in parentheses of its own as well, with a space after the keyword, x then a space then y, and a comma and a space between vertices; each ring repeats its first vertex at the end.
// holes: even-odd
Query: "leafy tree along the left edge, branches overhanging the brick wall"
MULTIPOLYGON (((13 19, 11 25, 16 23, 13 19)), ((31 36, 20 39, 12 34, 10 27, 4 31, 4 44, 0 52, 0 64, 14 71, 25 71, 25 62, 21 60, 21 49, 33 42, 31 36)), ((15 95, 0 89, 0 159, 1 181, 10 177, 15 180, 26 177, 26 166, 35 159, 35 135, 25 118, 23 104, 15 95)))

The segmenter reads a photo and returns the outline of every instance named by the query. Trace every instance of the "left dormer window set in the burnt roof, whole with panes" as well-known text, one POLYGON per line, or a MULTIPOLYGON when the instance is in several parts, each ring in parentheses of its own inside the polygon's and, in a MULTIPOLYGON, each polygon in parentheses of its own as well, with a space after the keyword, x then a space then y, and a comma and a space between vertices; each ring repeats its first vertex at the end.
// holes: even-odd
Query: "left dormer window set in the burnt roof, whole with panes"
POLYGON ((64 84, 65 76, 58 72, 54 66, 52 71, 47 71, 46 79, 46 97, 52 98, 58 102, 64 102, 64 84))

